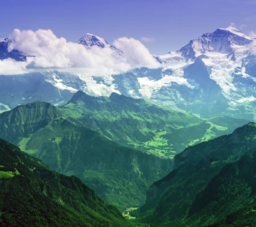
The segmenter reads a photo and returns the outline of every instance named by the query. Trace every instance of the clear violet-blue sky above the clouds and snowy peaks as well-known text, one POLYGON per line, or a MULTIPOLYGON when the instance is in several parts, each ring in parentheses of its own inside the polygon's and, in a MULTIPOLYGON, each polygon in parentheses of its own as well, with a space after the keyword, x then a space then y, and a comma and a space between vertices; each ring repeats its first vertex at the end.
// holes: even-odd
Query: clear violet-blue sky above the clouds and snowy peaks
POLYGON ((15 28, 51 29, 68 41, 86 33, 109 43, 146 37, 143 44, 152 54, 178 50, 232 23, 246 34, 256 31, 256 0, 0 0, 0 7, 0 38, 15 28))

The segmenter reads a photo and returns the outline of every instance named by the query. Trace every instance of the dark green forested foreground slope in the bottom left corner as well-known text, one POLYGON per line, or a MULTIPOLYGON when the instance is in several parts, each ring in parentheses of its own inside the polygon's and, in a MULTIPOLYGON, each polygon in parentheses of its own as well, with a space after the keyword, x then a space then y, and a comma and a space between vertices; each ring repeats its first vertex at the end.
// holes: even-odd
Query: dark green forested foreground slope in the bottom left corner
POLYGON ((133 226, 76 177, 0 140, 1 226, 133 226))

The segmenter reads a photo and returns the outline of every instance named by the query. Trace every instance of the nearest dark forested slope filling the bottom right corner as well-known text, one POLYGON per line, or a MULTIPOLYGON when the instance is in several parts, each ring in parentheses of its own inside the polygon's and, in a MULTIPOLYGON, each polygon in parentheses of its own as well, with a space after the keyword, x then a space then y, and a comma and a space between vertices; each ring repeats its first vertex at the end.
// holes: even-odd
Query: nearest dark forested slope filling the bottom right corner
POLYGON ((227 163, 221 168, 207 187, 196 196, 186 222, 193 225, 211 224, 212 221, 221 219, 218 222, 222 226, 255 226, 255 175, 256 149, 253 149, 238 161, 227 163))

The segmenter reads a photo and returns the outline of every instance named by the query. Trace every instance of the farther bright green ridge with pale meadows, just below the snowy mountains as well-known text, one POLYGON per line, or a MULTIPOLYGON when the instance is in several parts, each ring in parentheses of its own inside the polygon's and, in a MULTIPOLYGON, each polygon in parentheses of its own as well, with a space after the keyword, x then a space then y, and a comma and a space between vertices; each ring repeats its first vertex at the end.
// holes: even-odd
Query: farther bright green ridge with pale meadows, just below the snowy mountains
POLYGON ((116 93, 106 98, 79 91, 59 110, 70 121, 92 128, 120 145, 161 157, 173 157, 189 145, 232 133, 248 123, 230 117, 204 120, 116 93))

